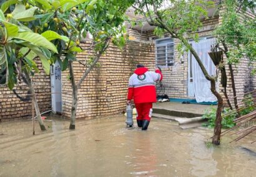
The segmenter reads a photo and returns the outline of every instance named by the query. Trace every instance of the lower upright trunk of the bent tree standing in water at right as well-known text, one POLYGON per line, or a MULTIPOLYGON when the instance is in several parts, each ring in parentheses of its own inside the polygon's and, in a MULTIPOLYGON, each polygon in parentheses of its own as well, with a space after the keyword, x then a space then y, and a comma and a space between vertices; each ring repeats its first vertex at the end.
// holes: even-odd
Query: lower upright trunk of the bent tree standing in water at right
POLYGON ((214 137, 212 138, 212 143, 214 143, 215 145, 219 145, 220 134, 221 134, 221 122, 222 122, 221 112, 223 109, 223 99, 222 99, 222 96, 220 96, 220 94, 216 91, 215 84, 216 84, 215 81, 210 81, 210 90, 218 99, 218 107, 216 111, 216 120, 215 120, 215 127, 214 127, 214 137))

